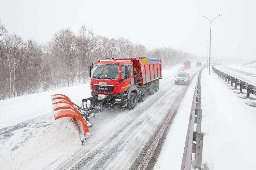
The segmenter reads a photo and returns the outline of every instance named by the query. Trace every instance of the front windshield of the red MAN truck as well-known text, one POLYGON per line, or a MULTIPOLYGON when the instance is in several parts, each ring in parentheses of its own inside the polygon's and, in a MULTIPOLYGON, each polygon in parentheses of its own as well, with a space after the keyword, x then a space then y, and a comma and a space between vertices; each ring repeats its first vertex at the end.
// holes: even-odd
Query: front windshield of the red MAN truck
POLYGON ((118 64, 94 64, 91 70, 92 78, 117 79, 118 64))

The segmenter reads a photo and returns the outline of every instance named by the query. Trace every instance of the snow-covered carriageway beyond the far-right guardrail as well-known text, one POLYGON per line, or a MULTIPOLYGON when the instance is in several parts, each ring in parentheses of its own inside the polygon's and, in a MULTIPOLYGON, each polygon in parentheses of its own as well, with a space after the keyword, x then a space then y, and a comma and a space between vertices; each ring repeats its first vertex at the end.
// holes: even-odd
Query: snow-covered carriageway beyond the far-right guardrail
POLYGON ((219 71, 229 74, 230 76, 256 86, 256 68, 248 68, 236 64, 223 64, 216 65, 214 67, 219 71))

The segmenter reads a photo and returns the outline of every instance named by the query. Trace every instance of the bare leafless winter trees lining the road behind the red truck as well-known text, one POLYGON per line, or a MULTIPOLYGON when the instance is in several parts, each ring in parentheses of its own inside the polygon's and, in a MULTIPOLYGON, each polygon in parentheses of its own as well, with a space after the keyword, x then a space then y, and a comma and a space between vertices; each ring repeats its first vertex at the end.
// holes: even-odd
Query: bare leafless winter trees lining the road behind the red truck
POLYGON ((172 48, 147 49, 126 38, 95 36, 82 26, 75 34, 69 28, 57 31, 52 40, 38 44, 10 34, 0 22, 0 99, 73 86, 88 81, 88 66, 99 57, 155 57, 163 68, 195 58, 172 48))

